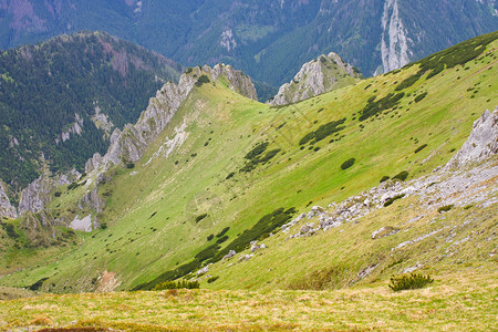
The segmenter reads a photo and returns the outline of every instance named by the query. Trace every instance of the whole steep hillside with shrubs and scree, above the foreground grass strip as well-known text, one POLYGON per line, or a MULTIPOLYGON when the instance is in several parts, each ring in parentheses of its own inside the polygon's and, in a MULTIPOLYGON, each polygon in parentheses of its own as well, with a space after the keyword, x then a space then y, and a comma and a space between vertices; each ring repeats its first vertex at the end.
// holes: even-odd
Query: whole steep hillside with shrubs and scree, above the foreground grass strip
MULTIPOLYGON (((491 264, 496 157, 475 170, 481 177, 471 193, 483 191, 483 200, 459 199, 445 189, 461 183, 465 173, 430 176, 463 146, 485 110, 498 105, 497 38, 483 35, 403 70, 282 107, 239 94, 245 91, 239 86, 248 86, 240 73, 230 70, 215 79, 216 69, 187 70, 178 87, 191 89, 143 155, 125 153, 125 167, 122 160, 87 169, 85 178, 59 187, 40 215, 73 220, 74 229, 96 218, 101 227, 68 232, 55 225, 52 231, 66 239, 68 251, 51 256, 54 249, 31 249, 22 240, 31 224, 8 220, 10 243, 25 247, 6 245, 2 271, 12 274, 0 282, 51 292, 149 289, 189 273, 195 278, 208 267, 203 287, 314 289, 320 276, 323 288, 344 288, 412 268, 445 274, 458 262, 466 269, 491 264), (395 180, 372 189, 385 176, 417 181, 409 183, 412 189, 395 180), (444 189, 443 196, 429 188, 444 189), (406 198, 395 198, 403 194, 406 198), (85 205, 91 201, 103 205, 85 205), (361 201, 369 214, 351 209, 361 201), (320 224, 341 207, 347 211, 343 219, 320 224), (310 210, 313 225, 298 220, 280 231, 310 210), (314 229, 319 235, 312 236, 314 229), (372 235, 377 230, 395 235, 377 240, 372 235), (309 236, 289 239, 295 234, 309 236), (255 240, 267 249, 251 256, 255 240), (222 260, 234 256, 230 250, 236 257, 222 260), (29 263, 17 259, 20 255, 29 263), (208 274, 219 279, 208 283, 208 274)), ((158 95, 167 100, 168 89, 174 86, 158 95)), ((169 102, 158 101, 151 105, 168 113, 163 106, 169 102)), ((141 121, 146 120, 144 113, 141 121)), ((128 132, 124 138, 142 142, 128 132)))

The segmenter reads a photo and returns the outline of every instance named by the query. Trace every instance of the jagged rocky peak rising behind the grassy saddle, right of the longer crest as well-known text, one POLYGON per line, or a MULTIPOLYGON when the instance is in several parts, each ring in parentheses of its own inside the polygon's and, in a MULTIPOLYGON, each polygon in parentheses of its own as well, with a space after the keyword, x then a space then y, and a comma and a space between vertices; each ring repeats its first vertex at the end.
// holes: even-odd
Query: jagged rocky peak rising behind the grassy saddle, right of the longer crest
POLYGON ((360 72, 341 56, 331 52, 304 63, 294 79, 280 86, 270 105, 286 105, 351 84, 360 72))

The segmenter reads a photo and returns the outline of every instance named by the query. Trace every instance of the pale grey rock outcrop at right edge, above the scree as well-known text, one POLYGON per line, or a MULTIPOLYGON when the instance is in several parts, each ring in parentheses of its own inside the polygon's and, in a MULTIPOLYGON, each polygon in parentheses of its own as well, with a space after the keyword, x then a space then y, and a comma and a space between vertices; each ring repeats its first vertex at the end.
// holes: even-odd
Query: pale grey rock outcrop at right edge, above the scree
POLYGON ((488 110, 474 122, 473 132, 460 151, 449 160, 448 167, 481 162, 498 153, 498 107, 488 110))

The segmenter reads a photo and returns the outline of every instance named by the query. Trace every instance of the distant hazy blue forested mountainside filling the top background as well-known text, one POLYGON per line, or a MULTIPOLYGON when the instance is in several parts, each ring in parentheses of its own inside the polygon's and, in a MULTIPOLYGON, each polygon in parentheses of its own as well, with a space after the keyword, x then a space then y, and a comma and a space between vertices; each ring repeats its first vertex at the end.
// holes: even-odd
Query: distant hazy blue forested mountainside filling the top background
POLYGON ((279 86, 331 51, 366 76, 397 69, 498 30, 497 9, 496 0, 4 0, 0 46, 104 30, 184 65, 225 62, 279 86))

